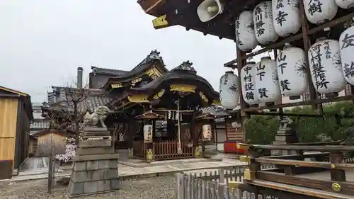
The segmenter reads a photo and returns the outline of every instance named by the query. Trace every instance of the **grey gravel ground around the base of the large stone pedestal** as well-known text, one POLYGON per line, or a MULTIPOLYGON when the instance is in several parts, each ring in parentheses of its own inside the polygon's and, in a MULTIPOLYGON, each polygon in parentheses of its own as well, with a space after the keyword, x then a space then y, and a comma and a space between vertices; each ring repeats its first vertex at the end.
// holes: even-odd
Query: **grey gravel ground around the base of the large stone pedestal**
MULTIPOLYGON (((47 193, 47 180, 0 183, 0 199, 62 199, 69 198, 67 186, 57 185, 52 194, 47 193)), ((176 177, 128 179, 122 181, 119 191, 81 196, 79 199, 176 199, 176 177)))

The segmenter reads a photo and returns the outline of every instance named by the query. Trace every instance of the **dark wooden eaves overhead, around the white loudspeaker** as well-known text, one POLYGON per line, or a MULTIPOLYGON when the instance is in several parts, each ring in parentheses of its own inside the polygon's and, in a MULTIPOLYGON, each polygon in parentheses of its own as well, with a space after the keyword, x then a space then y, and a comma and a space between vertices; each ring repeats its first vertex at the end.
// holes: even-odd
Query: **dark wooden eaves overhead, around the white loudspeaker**
MULTIPOLYGON (((219 38, 236 40, 234 30, 234 19, 241 11, 253 8, 261 0, 225 0, 223 13, 219 14, 212 21, 202 23, 198 18, 197 8, 202 1, 161 1, 161 0, 139 0, 137 3, 149 15, 162 21, 154 28, 165 28, 173 25, 182 25, 186 30, 197 30, 204 35, 216 35, 219 38), (165 16, 166 15, 166 16, 165 16), (167 24, 166 24, 167 23, 167 24)), ((155 22, 153 21, 153 23, 155 22)))

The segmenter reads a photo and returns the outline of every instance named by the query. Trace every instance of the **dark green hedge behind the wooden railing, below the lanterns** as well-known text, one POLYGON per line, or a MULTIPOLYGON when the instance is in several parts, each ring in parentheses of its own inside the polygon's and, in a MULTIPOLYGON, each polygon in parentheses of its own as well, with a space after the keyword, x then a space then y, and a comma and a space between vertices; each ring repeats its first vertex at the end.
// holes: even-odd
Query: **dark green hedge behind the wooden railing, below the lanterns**
MULTIPOLYGON (((285 113, 316 114, 311 107, 293 108, 285 113)), ((295 130, 299 133, 300 142, 324 141, 346 138, 344 130, 354 126, 354 111, 351 102, 338 102, 324 106, 324 118, 290 117, 294 121, 295 130), (329 115, 341 115, 339 120, 329 115), (346 118, 343 118, 346 116, 346 118)), ((271 144, 278 130, 277 116, 252 115, 246 121, 246 140, 252 144, 271 144)))

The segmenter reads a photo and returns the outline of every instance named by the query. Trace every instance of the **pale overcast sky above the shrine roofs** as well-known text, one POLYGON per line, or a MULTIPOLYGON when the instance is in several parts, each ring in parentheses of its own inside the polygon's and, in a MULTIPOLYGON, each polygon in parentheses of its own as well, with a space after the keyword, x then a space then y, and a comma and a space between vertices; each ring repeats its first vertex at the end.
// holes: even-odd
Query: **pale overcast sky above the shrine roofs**
POLYGON ((76 67, 130 70, 151 50, 171 69, 185 60, 218 90, 236 57, 232 40, 175 26, 154 30, 136 0, 0 1, 0 85, 46 101, 50 86, 76 78, 76 67))

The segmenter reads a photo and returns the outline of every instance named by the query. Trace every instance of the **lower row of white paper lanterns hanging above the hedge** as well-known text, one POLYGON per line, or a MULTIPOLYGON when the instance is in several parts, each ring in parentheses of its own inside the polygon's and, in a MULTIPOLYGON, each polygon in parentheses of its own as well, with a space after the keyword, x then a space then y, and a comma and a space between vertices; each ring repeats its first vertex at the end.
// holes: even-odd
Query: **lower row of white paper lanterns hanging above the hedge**
MULTIPOLYGON (((341 33, 339 41, 318 38, 307 52, 311 74, 305 71, 305 53, 299 47, 285 44, 276 60, 263 57, 241 68, 244 101, 250 106, 275 103, 282 95, 299 98, 308 91, 307 75, 321 94, 338 93, 347 82, 354 85, 354 26, 341 33)), ((226 72, 220 79, 220 101, 226 109, 239 104, 239 77, 226 72)))

